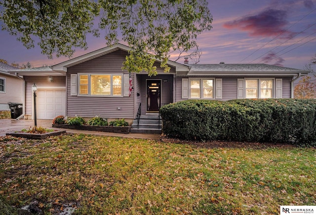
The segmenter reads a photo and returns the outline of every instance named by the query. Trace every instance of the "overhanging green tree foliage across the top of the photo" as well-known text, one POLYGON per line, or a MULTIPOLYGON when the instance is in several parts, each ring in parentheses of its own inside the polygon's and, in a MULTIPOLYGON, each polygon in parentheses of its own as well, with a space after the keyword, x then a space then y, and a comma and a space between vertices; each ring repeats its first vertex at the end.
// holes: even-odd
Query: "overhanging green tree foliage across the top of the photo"
POLYGON ((88 34, 102 35, 131 47, 123 69, 149 75, 157 74, 153 55, 168 72, 169 53, 197 49, 197 36, 212 28, 206 0, 1 0, 0 8, 2 30, 27 48, 39 41, 49 58, 71 57, 88 47, 88 34))

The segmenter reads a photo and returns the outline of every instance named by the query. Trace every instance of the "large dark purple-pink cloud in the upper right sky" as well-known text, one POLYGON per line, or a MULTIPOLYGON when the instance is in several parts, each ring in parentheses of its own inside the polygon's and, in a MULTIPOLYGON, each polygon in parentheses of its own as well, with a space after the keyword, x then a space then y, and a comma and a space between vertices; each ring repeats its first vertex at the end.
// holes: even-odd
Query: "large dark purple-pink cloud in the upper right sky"
POLYGON ((257 15, 245 16, 235 21, 227 22, 227 29, 237 28, 248 32, 250 36, 277 36, 281 32, 289 37, 292 32, 284 30, 288 24, 287 11, 279 9, 266 9, 257 15))

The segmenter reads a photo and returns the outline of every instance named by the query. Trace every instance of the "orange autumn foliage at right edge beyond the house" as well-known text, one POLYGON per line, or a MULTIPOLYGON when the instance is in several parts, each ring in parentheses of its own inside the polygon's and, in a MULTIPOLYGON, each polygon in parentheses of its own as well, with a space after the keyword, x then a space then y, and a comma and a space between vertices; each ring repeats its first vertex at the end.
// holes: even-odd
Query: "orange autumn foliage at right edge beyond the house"
POLYGON ((316 84, 310 76, 303 77, 294 88, 295 99, 315 99, 316 84))

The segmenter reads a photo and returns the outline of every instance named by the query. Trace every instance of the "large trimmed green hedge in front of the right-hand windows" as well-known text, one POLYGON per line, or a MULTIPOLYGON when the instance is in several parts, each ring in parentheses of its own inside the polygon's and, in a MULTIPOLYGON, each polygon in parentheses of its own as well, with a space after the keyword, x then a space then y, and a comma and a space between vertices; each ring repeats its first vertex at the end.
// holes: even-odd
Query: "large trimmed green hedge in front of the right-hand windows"
POLYGON ((160 113, 168 137, 316 145, 316 100, 187 100, 160 113))

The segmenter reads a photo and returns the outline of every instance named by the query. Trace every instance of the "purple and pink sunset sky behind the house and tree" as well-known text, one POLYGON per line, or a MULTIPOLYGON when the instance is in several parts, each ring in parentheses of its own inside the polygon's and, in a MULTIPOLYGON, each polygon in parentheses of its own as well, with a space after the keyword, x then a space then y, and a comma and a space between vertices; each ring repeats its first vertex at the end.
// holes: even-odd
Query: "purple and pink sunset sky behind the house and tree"
MULTIPOLYGON (((304 69, 316 54, 316 0, 208 2, 213 29, 198 36, 200 64, 266 63, 304 69)), ((0 38, 0 59, 9 64, 41 67, 68 60, 48 59, 38 46, 28 50, 5 31, 0 38)), ((78 49, 74 57, 106 46, 102 37, 89 36, 87 42, 89 48, 78 49)))

